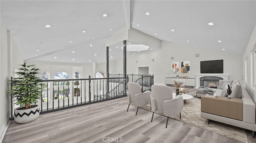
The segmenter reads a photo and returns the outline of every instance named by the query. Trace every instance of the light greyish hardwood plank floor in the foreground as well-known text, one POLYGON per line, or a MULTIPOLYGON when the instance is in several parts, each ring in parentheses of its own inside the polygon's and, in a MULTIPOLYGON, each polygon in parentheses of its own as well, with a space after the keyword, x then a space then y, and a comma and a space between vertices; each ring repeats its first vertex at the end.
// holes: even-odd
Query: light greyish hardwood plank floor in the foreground
POLYGON ((135 116, 137 108, 127 107, 124 97, 42 114, 26 124, 11 121, 3 143, 104 143, 107 137, 123 143, 240 143, 173 119, 166 129, 166 117, 154 114, 150 122, 152 112, 139 109, 135 116))

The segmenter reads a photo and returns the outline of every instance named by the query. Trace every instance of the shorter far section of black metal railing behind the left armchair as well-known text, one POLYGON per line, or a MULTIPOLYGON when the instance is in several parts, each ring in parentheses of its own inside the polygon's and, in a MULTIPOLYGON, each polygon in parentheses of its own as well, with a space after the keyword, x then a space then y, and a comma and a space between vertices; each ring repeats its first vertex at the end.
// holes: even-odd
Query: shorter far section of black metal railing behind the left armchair
MULTIPOLYGON (((109 77, 120 78, 124 77, 124 74, 109 74, 109 77)), ((142 74, 127 74, 128 82, 136 82, 140 84, 141 91, 151 90, 151 86, 154 84, 153 75, 142 75, 142 74)))

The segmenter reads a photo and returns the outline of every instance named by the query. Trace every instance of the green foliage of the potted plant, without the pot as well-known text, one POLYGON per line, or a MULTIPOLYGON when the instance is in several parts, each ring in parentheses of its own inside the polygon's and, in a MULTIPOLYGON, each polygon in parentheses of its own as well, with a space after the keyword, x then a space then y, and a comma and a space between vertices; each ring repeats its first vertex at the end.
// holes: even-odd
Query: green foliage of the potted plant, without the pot
POLYGON ((27 109, 31 104, 37 103, 41 98, 41 91, 43 84, 41 79, 36 75, 39 69, 35 65, 20 65, 19 72, 15 72, 19 77, 10 80, 11 89, 9 90, 10 96, 16 105, 22 104, 27 109))

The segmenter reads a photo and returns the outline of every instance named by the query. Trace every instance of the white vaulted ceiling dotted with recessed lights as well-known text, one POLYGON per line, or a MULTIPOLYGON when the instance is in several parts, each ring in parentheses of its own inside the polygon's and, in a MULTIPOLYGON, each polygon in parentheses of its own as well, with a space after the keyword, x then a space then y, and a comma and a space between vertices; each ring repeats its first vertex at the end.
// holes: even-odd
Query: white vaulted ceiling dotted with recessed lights
MULTIPOLYGON (((163 41, 242 55, 256 25, 255 0, 1 0, 0 6, 25 61, 101 63, 106 38, 130 27, 163 41)), ((121 47, 110 49, 110 60, 122 57, 121 47)))

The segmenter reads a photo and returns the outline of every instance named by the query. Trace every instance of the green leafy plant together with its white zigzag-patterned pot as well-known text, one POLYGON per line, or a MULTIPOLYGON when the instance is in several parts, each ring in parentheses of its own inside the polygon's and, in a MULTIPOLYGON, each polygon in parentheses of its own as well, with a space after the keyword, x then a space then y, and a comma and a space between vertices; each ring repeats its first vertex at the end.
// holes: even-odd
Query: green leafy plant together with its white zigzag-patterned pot
POLYGON ((39 116, 40 107, 35 105, 41 98, 43 84, 36 75, 39 69, 35 65, 20 65, 21 68, 15 72, 18 77, 10 80, 11 89, 9 94, 16 105, 22 107, 14 109, 14 120, 17 123, 28 123, 39 116))

